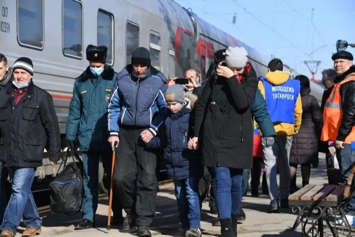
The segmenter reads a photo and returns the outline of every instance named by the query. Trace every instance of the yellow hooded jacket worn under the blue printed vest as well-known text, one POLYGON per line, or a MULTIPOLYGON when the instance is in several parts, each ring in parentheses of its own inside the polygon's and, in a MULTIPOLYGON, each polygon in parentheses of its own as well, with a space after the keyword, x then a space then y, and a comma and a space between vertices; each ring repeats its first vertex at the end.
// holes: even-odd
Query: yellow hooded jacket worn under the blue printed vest
MULTIPOLYGON (((265 80, 272 85, 281 85, 289 80, 290 74, 281 71, 269 72, 265 75, 265 80)), ((291 79, 290 79, 291 80, 291 79)), ((265 88, 262 81, 259 81, 258 88, 265 98, 265 88)), ((301 96, 298 93, 295 109, 294 109, 295 123, 274 122, 274 128, 277 137, 293 136, 295 132, 300 129, 302 120, 302 104, 301 96)))

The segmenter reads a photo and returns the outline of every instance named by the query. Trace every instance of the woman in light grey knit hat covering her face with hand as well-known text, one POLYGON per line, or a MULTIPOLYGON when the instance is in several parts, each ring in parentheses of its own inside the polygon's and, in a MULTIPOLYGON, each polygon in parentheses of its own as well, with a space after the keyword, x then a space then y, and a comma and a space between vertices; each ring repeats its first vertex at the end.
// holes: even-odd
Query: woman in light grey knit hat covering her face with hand
POLYGON ((217 182, 222 236, 236 236, 243 169, 253 164, 253 123, 249 107, 258 86, 256 73, 242 47, 229 47, 226 66, 219 63, 197 100, 194 138, 202 159, 217 182), (232 224, 233 222, 233 224, 232 224))

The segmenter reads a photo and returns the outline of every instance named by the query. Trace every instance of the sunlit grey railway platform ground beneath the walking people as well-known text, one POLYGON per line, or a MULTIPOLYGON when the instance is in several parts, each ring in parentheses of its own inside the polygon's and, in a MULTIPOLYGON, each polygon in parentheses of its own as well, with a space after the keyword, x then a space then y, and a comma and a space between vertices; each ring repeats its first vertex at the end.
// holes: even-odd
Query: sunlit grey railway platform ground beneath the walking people
MULTIPOLYGON (((322 153, 319 153, 319 166, 312 168, 310 181, 314 184, 327 183, 326 160, 322 153), (322 155, 321 155, 322 154, 322 155)), ((300 170, 300 169, 299 169, 300 170)), ((297 184, 301 186, 302 178, 297 174, 297 184)), ((165 183, 159 186, 160 192, 157 199, 157 211, 151 226, 153 236, 180 236, 179 217, 177 214, 176 200, 174 196, 173 183, 165 183)), ((260 187, 261 188, 261 187, 260 187)), ((280 209, 280 213, 267 213, 270 199, 267 195, 252 197, 250 190, 243 197, 243 209, 246 213, 246 220, 238 224, 238 236, 241 237, 271 237, 290 236, 296 215, 289 209, 280 209)), ((212 215, 208 208, 208 198, 203 202, 201 214, 201 230, 203 236, 219 236, 220 226, 212 226, 212 220, 217 215, 212 215)), ((74 216, 58 215, 51 213, 48 209, 40 212, 43 218, 43 232, 40 236, 135 236, 135 233, 122 233, 121 226, 112 226, 108 231, 108 198, 101 197, 96 213, 96 228, 87 230, 74 230, 74 223, 81 219, 81 213, 74 216)), ((19 228, 16 236, 21 236, 23 228, 19 228)), ((325 228, 325 232, 327 232, 325 228)), ((301 227, 298 226, 291 236, 302 236, 301 227)))

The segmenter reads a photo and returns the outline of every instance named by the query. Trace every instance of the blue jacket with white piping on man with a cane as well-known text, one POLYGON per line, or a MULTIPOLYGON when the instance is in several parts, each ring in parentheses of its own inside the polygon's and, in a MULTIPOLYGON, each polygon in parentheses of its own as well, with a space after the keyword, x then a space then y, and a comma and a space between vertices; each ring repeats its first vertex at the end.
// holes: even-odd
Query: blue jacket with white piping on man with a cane
POLYGON ((133 74, 131 64, 124 67, 117 75, 109 104, 110 136, 118 136, 121 125, 147 127, 156 135, 167 112, 166 81, 152 66, 143 78, 133 74))

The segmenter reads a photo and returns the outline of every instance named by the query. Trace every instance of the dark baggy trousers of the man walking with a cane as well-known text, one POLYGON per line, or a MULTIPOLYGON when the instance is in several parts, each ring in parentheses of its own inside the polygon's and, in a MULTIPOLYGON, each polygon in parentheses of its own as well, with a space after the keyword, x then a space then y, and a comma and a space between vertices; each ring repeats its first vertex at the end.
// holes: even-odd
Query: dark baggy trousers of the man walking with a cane
POLYGON ((139 138, 143 130, 145 128, 121 128, 114 184, 125 211, 135 213, 135 223, 138 226, 150 226, 158 191, 155 172, 157 160, 156 155, 148 151, 139 138))

